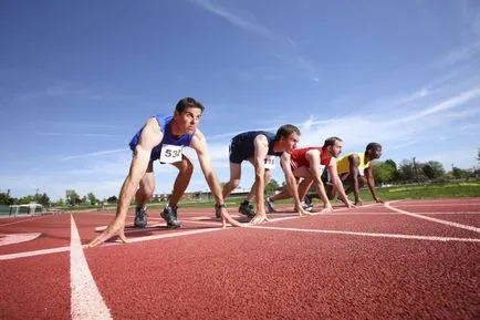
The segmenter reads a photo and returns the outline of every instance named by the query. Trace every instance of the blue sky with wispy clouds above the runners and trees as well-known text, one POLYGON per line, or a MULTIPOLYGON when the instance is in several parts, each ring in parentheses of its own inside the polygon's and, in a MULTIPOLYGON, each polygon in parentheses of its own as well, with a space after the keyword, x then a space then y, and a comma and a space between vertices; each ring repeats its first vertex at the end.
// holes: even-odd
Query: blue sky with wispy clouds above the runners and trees
MULTIPOLYGON (((182 96, 206 105, 223 182, 236 133, 284 123, 304 146, 337 135, 344 153, 375 141, 383 159, 477 165, 478 1, 1 1, 0 41, 0 189, 13 196, 117 195, 131 137, 182 96)), ((207 189, 196 165, 189 190, 207 189)), ((169 192, 176 171, 155 171, 169 192)))

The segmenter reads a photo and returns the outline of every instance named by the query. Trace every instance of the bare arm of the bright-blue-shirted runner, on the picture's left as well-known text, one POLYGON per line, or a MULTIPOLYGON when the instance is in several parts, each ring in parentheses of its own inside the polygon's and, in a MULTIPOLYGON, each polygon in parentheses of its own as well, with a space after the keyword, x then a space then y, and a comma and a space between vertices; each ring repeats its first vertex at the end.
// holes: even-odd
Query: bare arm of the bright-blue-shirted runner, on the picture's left
POLYGON ((127 242, 124 234, 125 218, 142 177, 147 171, 152 149, 161 142, 161 138, 163 134, 158 122, 155 118, 149 118, 142 131, 140 140, 134 151, 128 175, 122 185, 116 216, 108 224, 107 228, 88 244, 88 247, 96 247, 116 235, 118 235, 122 241, 127 242))

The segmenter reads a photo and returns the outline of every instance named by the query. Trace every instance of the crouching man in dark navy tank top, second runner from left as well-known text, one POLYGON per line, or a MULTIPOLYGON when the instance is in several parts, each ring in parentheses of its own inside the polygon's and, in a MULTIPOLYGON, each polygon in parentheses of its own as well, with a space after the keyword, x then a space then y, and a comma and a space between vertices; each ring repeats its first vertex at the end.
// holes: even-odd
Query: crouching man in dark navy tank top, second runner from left
MULTIPOLYGON (((264 186, 272 175, 270 167, 274 156, 282 153, 291 153, 300 141, 300 130, 292 125, 282 125, 276 134, 265 131, 250 131, 236 135, 230 144, 230 180, 223 186, 223 199, 240 184, 241 163, 249 161, 255 169, 255 182, 250 189, 247 199, 240 205, 239 211, 253 217, 251 224, 260 224, 268 220, 263 206, 264 186), (265 168, 267 167, 267 168, 265 168), (257 198, 257 211, 251 202, 257 198)), ((220 213, 216 211, 217 217, 220 213)))

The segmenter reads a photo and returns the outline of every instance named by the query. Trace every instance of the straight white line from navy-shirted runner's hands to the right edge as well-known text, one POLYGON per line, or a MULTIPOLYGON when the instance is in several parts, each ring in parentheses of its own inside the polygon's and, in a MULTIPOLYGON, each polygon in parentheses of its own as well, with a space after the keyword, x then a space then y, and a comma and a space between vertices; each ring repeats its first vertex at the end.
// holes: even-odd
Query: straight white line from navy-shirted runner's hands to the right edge
POLYGON ((282 227, 267 227, 267 226, 251 226, 250 228, 265 229, 265 230, 280 230, 280 231, 299 231, 299 233, 311 233, 311 234, 331 234, 331 235, 347 235, 347 236, 359 236, 359 237, 428 240, 428 241, 442 241, 442 242, 447 242, 447 241, 480 242, 480 239, 472 239, 472 238, 415 236, 415 235, 401 235, 401 234, 355 233, 355 231, 341 231, 341 230, 300 229, 300 228, 282 228, 282 227))

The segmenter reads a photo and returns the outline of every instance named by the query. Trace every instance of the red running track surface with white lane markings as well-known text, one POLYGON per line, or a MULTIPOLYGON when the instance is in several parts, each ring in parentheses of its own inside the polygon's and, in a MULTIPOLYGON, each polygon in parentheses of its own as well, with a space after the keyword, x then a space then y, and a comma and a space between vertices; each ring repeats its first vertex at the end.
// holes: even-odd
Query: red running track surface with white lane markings
POLYGON ((113 213, 0 219, 0 318, 480 316, 480 198, 336 206, 311 217, 285 208, 254 228, 220 229, 212 210, 179 215, 184 227, 170 230, 152 210, 154 227, 127 231, 135 242, 93 249, 80 241, 113 213), (42 235, 1 245, 32 233, 42 235))

